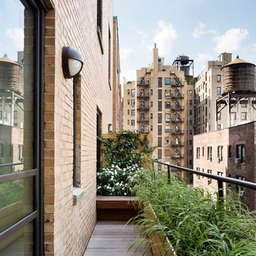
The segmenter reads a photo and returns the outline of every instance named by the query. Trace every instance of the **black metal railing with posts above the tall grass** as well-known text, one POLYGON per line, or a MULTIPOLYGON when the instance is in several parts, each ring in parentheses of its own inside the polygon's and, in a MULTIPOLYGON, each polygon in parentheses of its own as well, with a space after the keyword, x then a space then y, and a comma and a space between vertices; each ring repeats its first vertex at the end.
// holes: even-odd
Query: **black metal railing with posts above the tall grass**
MULTIPOLYGON (((220 198, 223 198, 224 193, 223 193, 223 183, 230 183, 236 186, 241 186, 243 188, 250 188, 252 190, 256 191, 256 183, 250 182, 250 181, 242 181, 239 180, 237 178, 229 178, 229 177, 225 177, 225 176, 219 176, 219 175, 215 175, 215 174, 208 174, 208 173, 204 173, 202 171, 196 171, 193 169, 188 169, 186 167, 181 167, 181 166, 176 166, 174 164, 166 164, 163 163, 161 161, 153 161, 153 165, 154 163, 158 163, 158 164, 162 164, 164 166, 167 166, 167 174, 168 174, 168 180, 171 181, 171 168, 179 170, 179 171, 185 171, 186 173, 189 174, 196 174, 199 176, 204 176, 207 178, 212 178, 215 181, 218 181, 218 196, 220 198)), ((221 199, 222 200, 222 199, 221 199)))

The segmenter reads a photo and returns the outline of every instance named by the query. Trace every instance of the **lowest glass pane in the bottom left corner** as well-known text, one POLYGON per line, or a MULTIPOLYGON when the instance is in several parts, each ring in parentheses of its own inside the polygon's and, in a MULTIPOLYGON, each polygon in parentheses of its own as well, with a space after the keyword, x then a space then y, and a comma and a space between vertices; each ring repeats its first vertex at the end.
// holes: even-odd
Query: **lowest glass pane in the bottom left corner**
POLYGON ((33 255, 33 223, 28 223, 9 238, 0 242, 0 255, 32 256, 33 255))

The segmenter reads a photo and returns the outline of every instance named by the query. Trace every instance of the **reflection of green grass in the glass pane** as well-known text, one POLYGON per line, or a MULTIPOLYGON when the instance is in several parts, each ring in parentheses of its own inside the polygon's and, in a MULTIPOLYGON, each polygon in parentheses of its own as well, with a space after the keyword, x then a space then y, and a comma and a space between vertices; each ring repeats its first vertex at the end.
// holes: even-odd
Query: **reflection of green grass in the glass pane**
POLYGON ((0 209, 23 200, 23 181, 11 181, 0 185, 0 209))

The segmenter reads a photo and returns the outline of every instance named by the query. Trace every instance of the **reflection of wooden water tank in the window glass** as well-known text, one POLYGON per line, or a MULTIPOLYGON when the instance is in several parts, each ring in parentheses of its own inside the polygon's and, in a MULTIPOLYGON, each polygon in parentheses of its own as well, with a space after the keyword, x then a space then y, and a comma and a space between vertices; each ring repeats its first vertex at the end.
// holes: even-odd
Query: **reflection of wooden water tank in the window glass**
POLYGON ((22 93, 22 67, 7 55, 0 58, 0 91, 11 90, 22 93))

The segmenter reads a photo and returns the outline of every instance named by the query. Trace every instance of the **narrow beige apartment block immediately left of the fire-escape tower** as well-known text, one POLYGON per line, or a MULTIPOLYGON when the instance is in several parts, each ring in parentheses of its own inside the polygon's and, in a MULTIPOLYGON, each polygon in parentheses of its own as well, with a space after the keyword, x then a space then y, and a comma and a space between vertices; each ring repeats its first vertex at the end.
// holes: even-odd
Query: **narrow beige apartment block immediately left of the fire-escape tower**
POLYGON ((126 81, 124 78, 123 129, 137 131, 136 106, 136 84, 134 81, 126 81))

